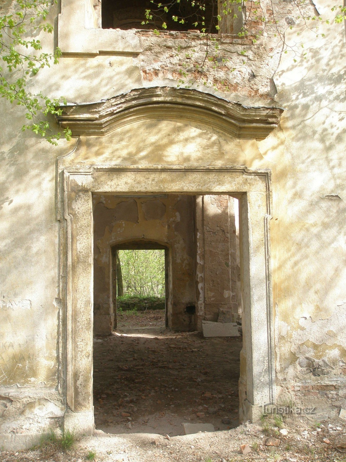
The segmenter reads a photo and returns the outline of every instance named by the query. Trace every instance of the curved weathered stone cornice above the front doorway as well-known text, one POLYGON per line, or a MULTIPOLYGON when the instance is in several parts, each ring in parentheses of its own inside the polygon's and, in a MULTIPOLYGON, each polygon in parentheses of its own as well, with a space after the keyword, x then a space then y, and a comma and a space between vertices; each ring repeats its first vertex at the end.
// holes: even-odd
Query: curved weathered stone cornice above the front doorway
POLYGON ((199 122, 236 138, 263 139, 277 128, 283 109, 245 106, 197 90, 153 87, 132 90, 106 101, 60 106, 61 128, 74 136, 105 135, 148 119, 199 122))

